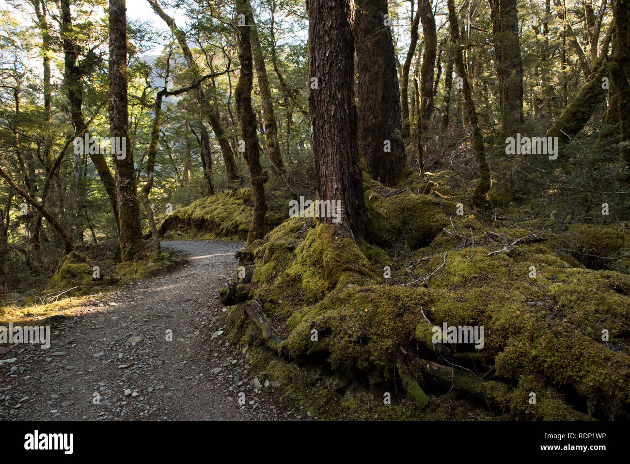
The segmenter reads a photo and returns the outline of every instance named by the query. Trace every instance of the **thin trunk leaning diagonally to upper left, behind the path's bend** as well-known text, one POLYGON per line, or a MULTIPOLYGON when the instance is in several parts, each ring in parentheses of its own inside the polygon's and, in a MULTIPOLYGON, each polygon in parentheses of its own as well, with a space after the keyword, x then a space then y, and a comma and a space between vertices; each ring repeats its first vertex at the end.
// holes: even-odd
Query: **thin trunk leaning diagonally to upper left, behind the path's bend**
MULTIPOLYGON (((184 55, 184 59, 186 60, 186 65, 188 66, 188 69, 193 71, 193 74, 195 75, 195 77, 201 78, 201 74, 199 72, 197 64, 195 64, 195 59, 193 58, 193 54, 190 51, 188 44, 186 44, 185 33, 180 28, 178 28, 178 26, 175 24, 175 20, 173 20, 173 18, 171 18, 164 12, 162 7, 159 6, 156 0, 147 0, 147 1, 149 2, 149 5, 151 5, 151 8, 153 9, 153 11, 155 11, 157 15, 160 18, 162 18, 162 20, 166 23, 166 25, 168 25, 169 28, 171 29, 171 32, 173 32, 173 35, 175 35, 175 38, 177 39, 178 44, 180 44, 181 52, 184 55)), ((228 182, 231 182, 233 180, 238 180, 239 173, 238 173, 238 169, 236 168, 236 163, 234 162, 234 152, 232 151, 232 148, 230 146, 230 142, 227 138, 226 130, 223 127, 223 124, 221 122, 221 118, 219 117, 219 113, 210 106, 210 98, 207 95, 206 91, 203 89, 203 86, 201 85, 199 86, 198 90, 196 91, 196 97, 201 107, 203 117, 209 120, 210 126, 212 127, 212 131, 214 132, 215 137, 217 137, 219 146, 221 146, 221 153, 223 154, 223 161, 226 165, 226 174, 227 174, 228 182)), ((208 144, 208 148, 209 147, 210 145, 208 144)), ((202 144, 202 149, 204 149, 203 144, 202 144)), ((207 153, 203 153, 203 156, 209 159, 211 155, 210 155, 210 152, 208 151, 207 153)), ((206 178, 209 176, 212 177, 212 173, 210 174, 205 173, 205 176, 206 178)))

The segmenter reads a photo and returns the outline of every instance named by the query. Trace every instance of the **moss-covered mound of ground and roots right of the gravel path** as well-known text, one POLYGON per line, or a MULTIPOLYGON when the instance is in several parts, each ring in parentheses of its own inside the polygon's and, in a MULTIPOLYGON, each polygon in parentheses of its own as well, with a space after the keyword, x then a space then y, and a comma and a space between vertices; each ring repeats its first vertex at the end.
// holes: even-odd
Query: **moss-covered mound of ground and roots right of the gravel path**
POLYGON ((328 419, 627 419, 624 224, 476 211, 449 173, 366 181, 365 197, 356 242, 294 217, 241 253, 231 341, 285 398, 328 419), (435 343, 443 323, 483 327, 483 347, 435 343))

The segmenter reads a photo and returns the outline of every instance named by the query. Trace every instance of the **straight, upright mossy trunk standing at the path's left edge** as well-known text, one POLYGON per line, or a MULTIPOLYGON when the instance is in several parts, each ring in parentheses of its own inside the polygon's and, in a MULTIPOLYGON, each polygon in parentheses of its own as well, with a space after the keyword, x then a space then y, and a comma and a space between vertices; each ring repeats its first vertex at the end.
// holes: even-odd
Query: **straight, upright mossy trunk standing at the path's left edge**
POLYGON ((140 228, 138 192, 135 185, 134 155, 129 141, 125 0, 110 0, 109 76, 110 134, 112 137, 121 137, 121 139, 124 137, 126 148, 126 153, 114 153, 113 160, 120 221, 120 251, 123 261, 128 261, 144 250, 144 242, 142 228, 140 228))

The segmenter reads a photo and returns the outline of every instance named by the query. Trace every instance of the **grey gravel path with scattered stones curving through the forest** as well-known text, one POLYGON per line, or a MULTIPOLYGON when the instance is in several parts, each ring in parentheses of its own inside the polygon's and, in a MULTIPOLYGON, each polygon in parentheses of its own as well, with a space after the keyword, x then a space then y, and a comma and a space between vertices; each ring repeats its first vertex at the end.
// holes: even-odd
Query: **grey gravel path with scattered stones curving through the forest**
POLYGON ((86 299, 51 328, 49 349, 0 352, 0 419, 307 419, 268 382, 249 379, 247 354, 221 332, 217 290, 236 272, 241 243, 163 246, 186 253, 188 264, 86 299))

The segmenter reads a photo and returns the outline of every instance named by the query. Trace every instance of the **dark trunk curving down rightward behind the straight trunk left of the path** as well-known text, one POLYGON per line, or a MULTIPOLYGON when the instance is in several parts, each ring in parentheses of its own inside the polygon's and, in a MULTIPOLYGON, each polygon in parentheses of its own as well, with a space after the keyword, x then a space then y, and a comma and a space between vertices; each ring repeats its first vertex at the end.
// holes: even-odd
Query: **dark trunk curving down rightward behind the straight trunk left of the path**
MULTIPOLYGON (((66 66, 66 70, 64 71, 64 86, 66 87, 68 101, 70 103, 72 127, 74 127, 76 136, 81 137, 88 128, 86 127, 83 119, 83 83, 81 82, 81 70, 76 65, 76 45, 72 41, 73 32, 70 0, 61 0, 60 5, 62 15, 62 32, 64 38, 64 65, 66 66)), ((105 156, 102 153, 90 153, 89 158, 92 160, 92 163, 94 163, 96 171, 98 172, 98 177, 100 177, 101 182, 103 182, 107 196, 112 204, 112 210, 114 212, 116 223, 118 224, 118 228, 120 228, 116 185, 112 176, 112 171, 110 171, 110 167, 107 165, 105 156)))

